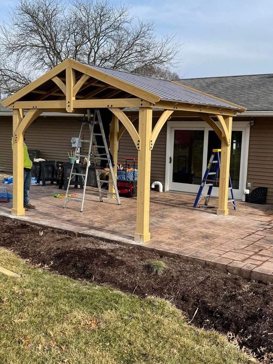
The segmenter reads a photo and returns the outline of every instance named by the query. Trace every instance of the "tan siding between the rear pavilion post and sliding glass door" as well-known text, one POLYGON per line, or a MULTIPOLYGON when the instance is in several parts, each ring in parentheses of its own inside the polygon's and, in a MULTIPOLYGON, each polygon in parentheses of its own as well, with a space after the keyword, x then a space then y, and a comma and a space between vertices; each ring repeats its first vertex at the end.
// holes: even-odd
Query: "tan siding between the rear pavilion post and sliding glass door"
MULTIPOLYGON (((153 121, 153 127, 155 123, 153 121)), ((134 123, 134 125, 138 130, 138 123, 134 123)), ((163 186, 165 185, 166 138, 167 124, 165 124, 159 133, 151 156, 151 182, 159 181, 163 186)), ((123 163, 126 157, 136 158, 137 163, 138 151, 127 131, 124 132, 119 141, 118 162, 123 163)))

